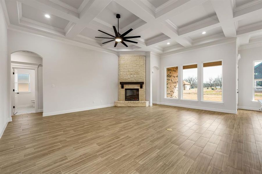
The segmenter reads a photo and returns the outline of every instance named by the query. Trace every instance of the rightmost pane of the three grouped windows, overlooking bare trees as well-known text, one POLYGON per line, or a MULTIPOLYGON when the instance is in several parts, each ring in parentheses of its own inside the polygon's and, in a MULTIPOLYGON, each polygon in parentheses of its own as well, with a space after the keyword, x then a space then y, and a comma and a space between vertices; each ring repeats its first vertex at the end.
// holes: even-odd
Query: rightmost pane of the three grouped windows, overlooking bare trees
POLYGON ((203 100, 222 102, 222 61, 203 63, 203 100))

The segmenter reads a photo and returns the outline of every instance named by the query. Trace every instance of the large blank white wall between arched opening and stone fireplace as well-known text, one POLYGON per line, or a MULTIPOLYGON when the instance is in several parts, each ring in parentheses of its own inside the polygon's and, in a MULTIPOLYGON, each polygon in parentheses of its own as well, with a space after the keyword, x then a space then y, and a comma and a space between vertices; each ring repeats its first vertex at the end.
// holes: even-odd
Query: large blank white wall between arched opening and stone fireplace
POLYGON ((44 116, 113 106, 117 100, 117 55, 8 30, 9 55, 18 50, 43 58, 44 116))

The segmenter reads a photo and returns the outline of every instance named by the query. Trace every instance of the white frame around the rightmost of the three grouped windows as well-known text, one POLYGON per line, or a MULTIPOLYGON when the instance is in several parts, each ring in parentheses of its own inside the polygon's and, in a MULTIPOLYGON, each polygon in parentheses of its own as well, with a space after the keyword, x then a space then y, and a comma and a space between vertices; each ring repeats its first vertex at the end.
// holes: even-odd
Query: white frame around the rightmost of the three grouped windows
POLYGON ((223 104, 224 100, 223 100, 223 96, 224 96, 224 76, 223 76, 223 59, 216 59, 216 60, 211 60, 211 61, 202 61, 201 62, 201 102, 207 102, 207 103, 217 103, 217 104, 223 104), (221 102, 216 102, 216 101, 207 101, 204 100, 204 63, 210 63, 210 62, 216 62, 216 61, 222 61, 222 101, 221 102))

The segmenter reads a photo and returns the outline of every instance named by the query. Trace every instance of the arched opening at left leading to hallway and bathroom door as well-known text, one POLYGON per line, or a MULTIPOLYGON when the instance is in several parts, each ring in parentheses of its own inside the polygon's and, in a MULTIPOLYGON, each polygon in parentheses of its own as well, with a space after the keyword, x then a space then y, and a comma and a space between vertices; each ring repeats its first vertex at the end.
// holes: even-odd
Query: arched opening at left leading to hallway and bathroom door
POLYGON ((42 62, 34 52, 11 54, 12 115, 43 112, 42 62))

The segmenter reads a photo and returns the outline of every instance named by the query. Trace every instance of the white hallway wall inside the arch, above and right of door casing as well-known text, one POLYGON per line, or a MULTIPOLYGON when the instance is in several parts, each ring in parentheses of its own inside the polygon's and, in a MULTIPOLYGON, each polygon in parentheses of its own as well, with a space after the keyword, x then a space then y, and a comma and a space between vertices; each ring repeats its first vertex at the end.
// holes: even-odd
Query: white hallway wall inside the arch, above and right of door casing
POLYGON ((11 61, 18 63, 39 64, 38 65, 38 112, 43 110, 43 59, 38 55, 15 52, 11 54, 11 61))

